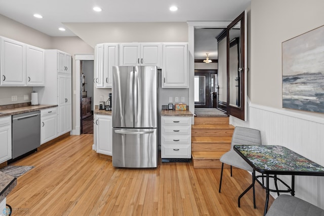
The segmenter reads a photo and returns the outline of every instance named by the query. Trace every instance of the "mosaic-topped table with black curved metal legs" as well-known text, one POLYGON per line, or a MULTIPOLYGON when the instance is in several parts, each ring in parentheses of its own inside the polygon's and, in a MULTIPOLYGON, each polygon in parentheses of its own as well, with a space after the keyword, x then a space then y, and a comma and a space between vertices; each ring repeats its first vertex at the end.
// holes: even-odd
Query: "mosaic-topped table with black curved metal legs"
MULTIPOLYGON (((271 192, 289 192, 295 195, 295 175, 316 175, 324 176, 324 167, 319 164, 297 154, 296 152, 282 146, 255 146, 255 145, 235 145, 234 151, 237 152, 246 162, 253 167, 252 184, 238 198, 238 206, 240 198, 247 193, 258 181, 260 177, 255 175, 255 171, 262 173, 261 177, 266 177, 266 201, 264 207, 264 215, 268 210, 269 193, 271 192), (276 175, 291 175, 292 184, 289 187, 286 183, 277 178, 276 175), (269 177, 275 179, 276 190, 269 188, 269 177), (280 181, 288 190, 278 190, 276 181, 280 181)), ((259 182, 259 181, 258 181, 259 182)), ((259 182, 260 183, 260 182, 259 182)))

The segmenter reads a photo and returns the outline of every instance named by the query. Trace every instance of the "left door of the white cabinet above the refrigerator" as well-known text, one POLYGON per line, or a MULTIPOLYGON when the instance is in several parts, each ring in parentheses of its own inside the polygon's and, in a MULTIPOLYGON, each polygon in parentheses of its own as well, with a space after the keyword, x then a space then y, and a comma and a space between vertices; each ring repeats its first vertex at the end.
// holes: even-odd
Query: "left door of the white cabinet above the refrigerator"
POLYGON ((140 44, 120 44, 119 65, 140 65, 140 44))

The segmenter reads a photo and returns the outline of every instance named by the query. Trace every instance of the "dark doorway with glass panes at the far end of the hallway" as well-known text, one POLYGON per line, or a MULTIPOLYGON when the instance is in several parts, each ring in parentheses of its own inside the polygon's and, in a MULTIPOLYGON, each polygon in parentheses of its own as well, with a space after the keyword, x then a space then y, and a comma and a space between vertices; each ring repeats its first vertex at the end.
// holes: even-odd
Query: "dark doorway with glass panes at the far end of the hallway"
POLYGON ((217 107, 217 70, 194 70, 194 107, 217 107))

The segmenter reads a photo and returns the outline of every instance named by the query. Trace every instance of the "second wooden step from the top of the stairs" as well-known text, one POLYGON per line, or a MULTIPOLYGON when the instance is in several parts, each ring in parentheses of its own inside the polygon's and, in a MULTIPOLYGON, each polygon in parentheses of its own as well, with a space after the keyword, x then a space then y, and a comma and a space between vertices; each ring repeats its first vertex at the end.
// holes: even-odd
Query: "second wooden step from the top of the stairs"
POLYGON ((232 136, 234 126, 232 125, 191 125, 191 136, 232 136))

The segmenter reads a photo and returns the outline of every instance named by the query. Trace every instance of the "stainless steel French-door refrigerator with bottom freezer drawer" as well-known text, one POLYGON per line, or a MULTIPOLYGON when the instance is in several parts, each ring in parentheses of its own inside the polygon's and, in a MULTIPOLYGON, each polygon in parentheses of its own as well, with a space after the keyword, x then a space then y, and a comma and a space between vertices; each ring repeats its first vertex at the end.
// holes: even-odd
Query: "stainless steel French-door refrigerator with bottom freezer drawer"
POLYGON ((157 68, 114 66, 112 165, 157 167, 157 68))

